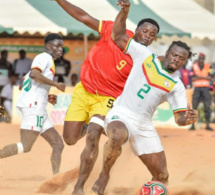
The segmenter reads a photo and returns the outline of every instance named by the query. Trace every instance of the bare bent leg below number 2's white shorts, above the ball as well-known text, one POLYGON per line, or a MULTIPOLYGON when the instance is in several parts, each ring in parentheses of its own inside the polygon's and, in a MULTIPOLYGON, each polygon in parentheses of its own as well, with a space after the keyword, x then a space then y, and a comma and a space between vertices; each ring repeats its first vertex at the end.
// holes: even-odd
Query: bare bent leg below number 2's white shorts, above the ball
POLYGON ((160 181, 167 184, 169 173, 167 171, 164 151, 153 154, 143 154, 139 156, 139 158, 152 174, 153 181, 160 181))

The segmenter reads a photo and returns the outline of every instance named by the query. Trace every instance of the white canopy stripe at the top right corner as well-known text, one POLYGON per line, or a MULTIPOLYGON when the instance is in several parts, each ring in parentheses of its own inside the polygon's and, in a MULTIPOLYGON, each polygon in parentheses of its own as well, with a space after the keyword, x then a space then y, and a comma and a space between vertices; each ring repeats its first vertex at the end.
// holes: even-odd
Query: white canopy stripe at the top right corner
MULTIPOLYGON (((137 0, 139 1, 139 0, 137 0)), ((215 16, 193 0, 142 0, 169 24, 192 38, 215 39, 215 16)))

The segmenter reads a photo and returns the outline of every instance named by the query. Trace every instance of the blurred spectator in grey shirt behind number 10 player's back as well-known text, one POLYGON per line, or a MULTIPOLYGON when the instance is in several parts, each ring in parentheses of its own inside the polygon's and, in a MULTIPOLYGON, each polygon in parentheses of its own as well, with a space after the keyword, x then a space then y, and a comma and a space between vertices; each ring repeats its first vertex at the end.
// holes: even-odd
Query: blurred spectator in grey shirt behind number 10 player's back
POLYGON ((22 78, 31 69, 32 59, 26 58, 26 51, 21 49, 19 51, 19 59, 14 61, 14 71, 19 75, 17 82, 22 83, 22 78))

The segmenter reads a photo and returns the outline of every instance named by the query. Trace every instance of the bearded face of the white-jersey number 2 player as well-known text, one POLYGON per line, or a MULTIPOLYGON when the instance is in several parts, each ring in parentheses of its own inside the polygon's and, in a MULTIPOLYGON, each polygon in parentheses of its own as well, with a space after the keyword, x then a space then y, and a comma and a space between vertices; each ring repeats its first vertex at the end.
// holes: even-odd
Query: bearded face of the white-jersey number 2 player
POLYGON ((166 52, 163 61, 164 67, 170 72, 175 72, 187 62, 188 56, 189 52, 185 48, 174 45, 166 52))

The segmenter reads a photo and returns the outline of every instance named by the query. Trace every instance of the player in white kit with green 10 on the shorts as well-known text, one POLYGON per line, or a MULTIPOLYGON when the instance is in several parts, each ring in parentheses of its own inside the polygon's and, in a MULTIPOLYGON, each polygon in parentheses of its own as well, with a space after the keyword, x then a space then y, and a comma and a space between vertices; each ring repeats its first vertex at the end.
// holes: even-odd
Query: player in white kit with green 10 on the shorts
POLYGON ((54 59, 63 54, 63 39, 59 34, 50 33, 45 37, 45 52, 37 55, 31 70, 24 78, 17 107, 22 113, 21 140, 0 150, 0 158, 29 152, 41 135, 52 147, 51 163, 53 174, 59 172, 63 140, 50 121, 46 106, 48 101, 56 103, 56 95, 49 95, 50 86, 65 91, 64 83, 53 81, 54 59))

